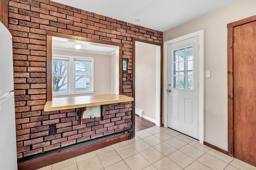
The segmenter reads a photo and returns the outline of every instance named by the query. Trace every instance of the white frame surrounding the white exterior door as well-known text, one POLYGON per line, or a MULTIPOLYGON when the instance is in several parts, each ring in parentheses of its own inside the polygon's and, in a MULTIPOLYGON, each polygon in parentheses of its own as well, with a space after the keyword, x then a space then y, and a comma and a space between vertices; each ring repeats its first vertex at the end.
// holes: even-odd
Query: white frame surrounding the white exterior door
MULTIPOLYGON (((199 37, 199 142, 204 143, 204 30, 199 30, 164 42, 164 91, 168 89, 168 45, 190 38, 199 37)), ((168 127, 168 93, 164 93, 164 127, 168 127)))

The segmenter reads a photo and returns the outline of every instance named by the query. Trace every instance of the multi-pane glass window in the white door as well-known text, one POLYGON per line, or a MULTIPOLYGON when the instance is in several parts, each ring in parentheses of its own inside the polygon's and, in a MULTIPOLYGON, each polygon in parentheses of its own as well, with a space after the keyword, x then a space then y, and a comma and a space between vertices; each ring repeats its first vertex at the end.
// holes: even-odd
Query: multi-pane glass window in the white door
POLYGON ((193 90, 193 45, 174 49, 172 65, 173 88, 193 90))

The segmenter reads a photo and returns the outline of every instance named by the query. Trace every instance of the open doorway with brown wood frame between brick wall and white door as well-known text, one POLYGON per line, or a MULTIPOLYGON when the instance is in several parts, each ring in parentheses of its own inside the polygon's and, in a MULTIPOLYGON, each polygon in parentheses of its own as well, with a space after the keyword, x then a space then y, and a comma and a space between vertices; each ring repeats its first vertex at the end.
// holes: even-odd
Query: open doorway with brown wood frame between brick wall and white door
MULTIPOLYGON (((162 126, 162 44, 133 39, 133 128, 137 119, 162 126)), ((138 126, 137 126, 138 127, 138 126)))

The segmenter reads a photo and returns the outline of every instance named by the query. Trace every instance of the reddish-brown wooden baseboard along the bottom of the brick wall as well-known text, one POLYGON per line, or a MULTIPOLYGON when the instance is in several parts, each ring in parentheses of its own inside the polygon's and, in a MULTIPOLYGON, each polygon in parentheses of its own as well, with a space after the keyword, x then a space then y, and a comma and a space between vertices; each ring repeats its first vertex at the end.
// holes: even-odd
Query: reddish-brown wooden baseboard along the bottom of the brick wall
POLYGON ((38 168, 42 168, 51 164, 55 164, 57 162, 61 162, 63 160, 67 160, 82 154, 86 154, 88 152, 92 152, 100 148, 104 148, 106 146, 110 146, 112 144, 116 144, 118 142, 122 142, 124 140, 128 140, 128 138, 129 134, 126 133, 120 136, 115 136, 85 146, 80 146, 63 152, 58 152, 56 154, 51 154, 27 162, 22 162, 18 164, 18 170, 35 170, 38 168))

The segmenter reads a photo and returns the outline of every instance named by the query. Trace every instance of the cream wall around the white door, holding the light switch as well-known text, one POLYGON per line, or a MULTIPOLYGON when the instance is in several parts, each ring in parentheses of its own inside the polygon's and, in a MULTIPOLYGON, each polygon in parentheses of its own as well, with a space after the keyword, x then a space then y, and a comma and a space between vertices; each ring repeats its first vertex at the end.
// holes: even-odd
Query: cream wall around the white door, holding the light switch
POLYGON ((227 24, 256 15, 256 0, 237 0, 164 32, 164 41, 204 29, 204 141, 228 150, 227 24))

